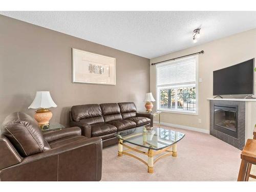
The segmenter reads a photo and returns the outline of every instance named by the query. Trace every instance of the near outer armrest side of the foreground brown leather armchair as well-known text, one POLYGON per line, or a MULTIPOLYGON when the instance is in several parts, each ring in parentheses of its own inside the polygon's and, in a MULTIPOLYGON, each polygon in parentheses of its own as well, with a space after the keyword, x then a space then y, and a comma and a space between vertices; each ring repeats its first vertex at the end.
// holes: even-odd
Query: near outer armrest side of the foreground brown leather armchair
POLYGON ((100 181, 102 140, 79 140, 0 170, 1 181, 100 181))

